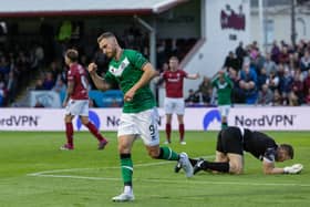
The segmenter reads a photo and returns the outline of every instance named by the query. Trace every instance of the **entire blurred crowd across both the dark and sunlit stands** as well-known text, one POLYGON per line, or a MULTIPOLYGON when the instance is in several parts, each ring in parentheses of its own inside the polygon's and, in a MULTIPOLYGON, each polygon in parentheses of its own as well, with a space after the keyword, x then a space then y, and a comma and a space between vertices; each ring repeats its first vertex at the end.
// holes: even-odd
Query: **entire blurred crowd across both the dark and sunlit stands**
MULTIPOLYGON (((134 25, 117 37, 121 45, 141 51, 148 56, 148 38, 134 25)), ((157 40, 156 65, 159 72, 167 70, 167 60, 175 55, 182 60, 196 43, 196 39, 157 40)), ((68 48, 80 52, 80 63, 94 61, 100 73, 107 69, 108 60, 97 45, 85 45, 74 38, 56 41, 54 48, 44 42, 20 42, 0 46, 0 106, 8 106, 25 89, 53 90, 60 94, 66 90, 66 69, 63 53, 68 48), (84 45, 84 46, 83 46, 84 45), (51 52, 53 51, 53 52, 51 52)), ((242 42, 229 51, 223 69, 234 82, 231 94, 235 104, 310 105, 310 42, 297 45, 275 41, 270 50, 262 52, 257 42, 242 42)), ((216 93, 210 76, 205 76, 197 90, 190 90, 187 105, 216 105, 216 93)), ((91 83, 92 84, 92 83, 91 83)), ((115 86, 117 89, 117 86, 115 86)), ((92 89, 94 89, 92 84, 92 89)))

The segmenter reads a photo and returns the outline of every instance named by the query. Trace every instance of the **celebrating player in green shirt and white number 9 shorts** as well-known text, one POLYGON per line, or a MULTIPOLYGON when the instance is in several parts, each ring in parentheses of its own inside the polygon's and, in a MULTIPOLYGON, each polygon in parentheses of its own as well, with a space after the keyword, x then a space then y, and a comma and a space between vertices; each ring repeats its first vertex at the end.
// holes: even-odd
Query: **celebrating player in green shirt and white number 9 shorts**
POLYGON ((96 64, 89 65, 89 72, 100 90, 108 90, 117 83, 124 93, 124 106, 117 130, 121 170, 124 192, 112 198, 113 201, 134 200, 132 147, 137 137, 143 139, 152 158, 179 161, 187 177, 193 176, 193 166, 185 153, 177 154, 169 147, 159 147, 157 110, 149 81, 157 74, 152 64, 137 51, 122 49, 111 32, 99 37, 102 52, 111 59, 104 79, 96 74, 96 64))

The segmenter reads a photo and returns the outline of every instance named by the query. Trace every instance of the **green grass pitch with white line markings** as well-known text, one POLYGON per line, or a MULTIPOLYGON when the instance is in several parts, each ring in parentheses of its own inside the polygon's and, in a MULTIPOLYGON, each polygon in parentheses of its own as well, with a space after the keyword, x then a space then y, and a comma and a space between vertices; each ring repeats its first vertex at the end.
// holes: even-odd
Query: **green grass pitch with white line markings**
MULTIPOLYGON (((112 203, 123 189, 118 169, 116 133, 104 133, 106 149, 96 149, 89 133, 75 133, 75 149, 62 152, 64 133, 0 133, 0 206, 2 207, 95 207, 95 206, 310 206, 309 132, 270 132, 278 143, 294 146, 300 175, 266 176, 261 163, 246 155, 245 175, 198 173, 185 178, 174 173, 174 162, 154 161, 141 141, 133 151, 134 193, 130 204, 112 203)), ((187 145, 173 134, 172 148, 190 157, 214 159, 215 132, 186 132, 187 145)), ((164 134, 162 133, 164 138, 164 134)), ((164 142, 164 139, 162 139, 164 142)))

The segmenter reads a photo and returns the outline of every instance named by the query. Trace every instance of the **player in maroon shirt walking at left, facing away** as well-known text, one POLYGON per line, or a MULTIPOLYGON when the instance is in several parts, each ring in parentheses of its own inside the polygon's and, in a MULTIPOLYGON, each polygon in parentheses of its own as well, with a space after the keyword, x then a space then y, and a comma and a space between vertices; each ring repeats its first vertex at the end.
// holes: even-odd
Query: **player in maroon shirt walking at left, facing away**
POLYGON ((99 149, 103 149, 107 141, 101 135, 96 126, 89 121, 89 80, 87 73, 82 65, 78 63, 79 52, 69 49, 65 52, 65 64, 68 71, 68 90, 63 106, 65 106, 65 134, 66 144, 61 149, 73 149, 73 125, 72 120, 75 115, 80 116, 81 122, 97 138, 99 149))

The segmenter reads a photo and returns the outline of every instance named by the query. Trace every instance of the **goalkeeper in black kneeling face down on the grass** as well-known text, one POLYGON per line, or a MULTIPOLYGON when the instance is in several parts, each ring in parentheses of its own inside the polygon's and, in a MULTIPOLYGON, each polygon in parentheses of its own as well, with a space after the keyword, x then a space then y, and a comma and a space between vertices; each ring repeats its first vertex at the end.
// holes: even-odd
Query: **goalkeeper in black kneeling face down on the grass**
MULTIPOLYGON (((241 174, 244 172, 244 151, 262 162, 262 170, 267 175, 298 174, 303 168, 301 164, 283 168, 275 166, 276 162, 293 158, 291 145, 278 145, 271 137, 261 132, 234 126, 218 133, 215 162, 203 158, 189 161, 194 166, 194 174, 199 170, 241 174)), ((177 164, 175 172, 178 173, 179 169, 179 164, 177 164)))

